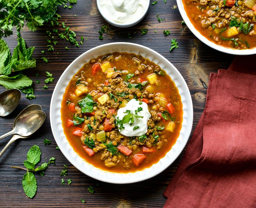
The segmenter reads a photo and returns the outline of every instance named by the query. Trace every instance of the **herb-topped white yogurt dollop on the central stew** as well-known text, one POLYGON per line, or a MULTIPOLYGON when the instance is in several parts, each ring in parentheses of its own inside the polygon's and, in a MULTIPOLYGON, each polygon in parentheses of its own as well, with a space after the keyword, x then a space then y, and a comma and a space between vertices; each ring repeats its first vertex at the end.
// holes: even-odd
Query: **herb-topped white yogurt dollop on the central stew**
POLYGON ((148 105, 145 102, 140 102, 136 99, 132 99, 127 103, 127 105, 124 108, 120 108, 117 111, 116 118, 119 120, 122 120, 124 116, 128 114, 127 112, 130 112, 138 116, 143 116, 143 118, 133 116, 133 119, 134 119, 133 124, 130 125, 129 123, 131 122, 123 124, 124 128, 122 129, 119 128, 119 132, 127 137, 142 136, 145 133, 147 133, 148 119, 151 117, 151 114, 148 112, 148 105))

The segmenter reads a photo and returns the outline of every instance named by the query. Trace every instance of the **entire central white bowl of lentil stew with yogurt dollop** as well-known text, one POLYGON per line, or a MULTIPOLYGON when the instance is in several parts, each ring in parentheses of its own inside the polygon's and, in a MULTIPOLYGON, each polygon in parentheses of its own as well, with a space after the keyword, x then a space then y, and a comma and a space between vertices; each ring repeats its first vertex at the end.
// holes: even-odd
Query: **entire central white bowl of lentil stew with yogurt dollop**
POLYGON ((157 52, 131 43, 95 47, 74 60, 54 89, 54 138, 81 172, 132 183, 167 168, 193 123, 188 87, 157 52))

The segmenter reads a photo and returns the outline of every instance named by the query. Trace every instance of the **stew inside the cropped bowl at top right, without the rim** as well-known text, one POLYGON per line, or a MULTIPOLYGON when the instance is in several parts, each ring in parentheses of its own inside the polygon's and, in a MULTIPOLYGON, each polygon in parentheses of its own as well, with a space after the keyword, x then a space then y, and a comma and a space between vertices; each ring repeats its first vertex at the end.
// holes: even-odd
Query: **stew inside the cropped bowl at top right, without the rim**
POLYGON ((255 0, 182 0, 193 26, 215 44, 233 49, 256 47, 255 0))

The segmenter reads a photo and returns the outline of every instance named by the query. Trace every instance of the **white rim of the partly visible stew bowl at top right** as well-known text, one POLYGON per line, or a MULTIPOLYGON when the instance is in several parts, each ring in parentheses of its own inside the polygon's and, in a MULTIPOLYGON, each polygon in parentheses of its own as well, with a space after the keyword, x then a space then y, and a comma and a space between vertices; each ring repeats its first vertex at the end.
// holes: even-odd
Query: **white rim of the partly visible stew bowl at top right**
POLYGON ((212 41, 208 40, 206 37, 202 36, 201 33, 199 33, 193 26, 193 24, 190 22, 187 13, 184 9, 184 5, 182 3, 182 0, 177 0, 177 5, 181 14, 181 17, 185 21, 186 25, 188 28, 191 30, 191 32, 199 39, 201 40, 204 44, 210 46, 213 49, 216 49, 220 52, 224 53, 229 53, 229 54, 234 54, 234 55, 251 55, 251 54, 256 54, 256 47, 252 49, 243 49, 243 50, 238 50, 238 49, 232 49, 232 48, 226 48, 224 46, 217 45, 213 43, 212 41))

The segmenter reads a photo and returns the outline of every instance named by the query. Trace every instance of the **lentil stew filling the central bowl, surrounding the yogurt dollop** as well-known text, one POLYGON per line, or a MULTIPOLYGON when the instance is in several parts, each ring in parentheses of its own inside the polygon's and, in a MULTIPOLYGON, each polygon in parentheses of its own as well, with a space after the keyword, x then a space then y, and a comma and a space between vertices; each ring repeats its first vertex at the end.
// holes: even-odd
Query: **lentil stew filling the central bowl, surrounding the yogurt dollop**
MULTIPOLYGON (((130 125, 143 119, 141 107, 134 114, 131 110, 125 112, 130 125)), ((70 145, 85 161, 109 172, 135 172, 157 163, 179 137, 182 116, 181 97, 170 76, 154 62, 127 52, 85 63, 61 103, 70 145), (124 136, 124 118, 119 119, 117 112, 132 100, 146 106, 150 118, 145 134, 124 136)), ((139 128, 134 126, 133 131, 139 128)))

